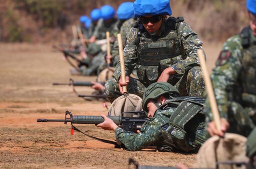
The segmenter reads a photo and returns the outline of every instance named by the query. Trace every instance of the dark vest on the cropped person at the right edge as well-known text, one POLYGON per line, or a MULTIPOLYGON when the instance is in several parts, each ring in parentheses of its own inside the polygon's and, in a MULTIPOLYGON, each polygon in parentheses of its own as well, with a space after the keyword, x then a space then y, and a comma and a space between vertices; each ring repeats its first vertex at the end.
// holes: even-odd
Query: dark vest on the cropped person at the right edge
POLYGON ((256 37, 250 26, 241 31, 242 51, 242 104, 245 107, 256 107, 256 37))

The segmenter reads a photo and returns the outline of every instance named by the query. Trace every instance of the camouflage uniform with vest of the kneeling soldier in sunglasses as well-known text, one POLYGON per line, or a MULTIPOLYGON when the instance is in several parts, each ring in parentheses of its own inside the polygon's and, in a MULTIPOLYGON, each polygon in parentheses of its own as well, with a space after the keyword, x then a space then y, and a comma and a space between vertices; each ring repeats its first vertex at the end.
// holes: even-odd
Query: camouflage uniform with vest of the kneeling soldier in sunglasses
MULTIPOLYGON (((197 57, 202 42, 189 25, 182 21, 182 17, 179 19, 164 19, 159 36, 151 36, 146 30, 140 30, 141 24, 138 23, 131 28, 123 50, 125 74, 129 75, 136 66, 139 80, 130 78, 127 86, 129 93, 142 97, 145 88, 157 81, 165 68, 171 67, 176 73, 170 75, 167 82, 174 85, 182 96, 203 95, 205 86, 197 57), (137 38, 138 34, 141 36, 137 38)), ((118 62, 114 78, 105 84, 110 102, 121 95, 117 85, 120 74, 118 62)))

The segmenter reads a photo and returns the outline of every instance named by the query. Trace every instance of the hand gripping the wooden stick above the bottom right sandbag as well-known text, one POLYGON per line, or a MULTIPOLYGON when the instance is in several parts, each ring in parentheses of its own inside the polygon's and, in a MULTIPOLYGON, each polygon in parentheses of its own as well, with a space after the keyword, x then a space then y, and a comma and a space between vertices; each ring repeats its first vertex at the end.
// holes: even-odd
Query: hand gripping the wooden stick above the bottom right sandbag
POLYGON ((220 118, 220 132, 218 132, 214 121, 208 123, 207 131, 209 132, 210 136, 218 135, 223 137, 224 133, 227 131, 228 128, 229 123, 227 122, 227 120, 225 118, 220 118))

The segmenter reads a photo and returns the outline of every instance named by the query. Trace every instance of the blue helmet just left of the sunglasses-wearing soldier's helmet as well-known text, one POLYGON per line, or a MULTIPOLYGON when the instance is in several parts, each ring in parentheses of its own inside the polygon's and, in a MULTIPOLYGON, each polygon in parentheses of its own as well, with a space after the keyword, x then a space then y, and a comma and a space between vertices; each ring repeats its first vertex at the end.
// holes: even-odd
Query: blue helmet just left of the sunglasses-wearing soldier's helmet
POLYGON ((133 2, 123 2, 116 10, 118 19, 129 19, 134 16, 133 2))

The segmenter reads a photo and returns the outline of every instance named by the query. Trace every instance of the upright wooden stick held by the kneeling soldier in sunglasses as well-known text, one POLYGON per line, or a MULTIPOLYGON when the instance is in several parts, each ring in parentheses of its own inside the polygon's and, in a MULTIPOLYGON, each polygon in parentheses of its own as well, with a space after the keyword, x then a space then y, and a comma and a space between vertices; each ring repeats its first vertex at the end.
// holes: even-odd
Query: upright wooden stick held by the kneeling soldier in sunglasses
MULTIPOLYGON (((124 59, 123 59, 123 50, 122 50, 122 37, 121 34, 117 34, 117 41, 118 41, 118 49, 119 49, 119 57, 120 57, 120 66, 121 66, 121 80, 125 82, 125 68, 124 68, 124 59)), ((122 86, 122 90, 124 93, 127 93, 127 87, 122 86)))

